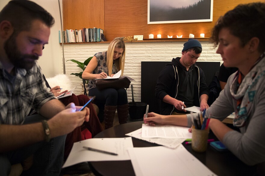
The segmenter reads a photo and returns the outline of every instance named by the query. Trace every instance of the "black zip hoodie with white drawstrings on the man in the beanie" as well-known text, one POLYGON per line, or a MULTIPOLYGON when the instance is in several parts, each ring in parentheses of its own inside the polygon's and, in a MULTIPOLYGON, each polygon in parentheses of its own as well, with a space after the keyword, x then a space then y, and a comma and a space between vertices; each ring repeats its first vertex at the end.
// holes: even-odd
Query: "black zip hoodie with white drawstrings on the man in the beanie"
MULTIPOLYGON (((155 97, 160 99, 160 114, 171 115, 174 110, 174 105, 163 102, 166 95, 178 99, 179 87, 183 77, 183 65, 179 62, 180 57, 173 58, 170 64, 167 64, 160 72, 157 78, 155 87, 155 97)), ((208 93, 208 86, 205 83, 205 76, 201 68, 196 63, 190 69, 195 76, 193 106, 200 107, 200 96, 208 93)))

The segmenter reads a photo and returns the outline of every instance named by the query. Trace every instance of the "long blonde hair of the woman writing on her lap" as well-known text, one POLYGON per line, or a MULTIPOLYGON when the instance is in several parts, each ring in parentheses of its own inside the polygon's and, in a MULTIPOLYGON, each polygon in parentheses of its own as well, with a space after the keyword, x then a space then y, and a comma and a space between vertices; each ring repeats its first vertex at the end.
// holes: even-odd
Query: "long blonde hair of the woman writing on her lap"
POLYGON ((124 41, 122 40, 122 38, 114 38, 114 40, 111 41, 111 43, 108 47, 108 51, 107 51, 108 72, 109 72, 109 76, 111 76, 112 66, 113 66, 113 55, 114 55, 115 47, 123 49, 121 56, 115 60, 116 68, 118 71, 121 70, 121 76, 122 76, 123 70, 124 70, 124 64, 125 64, 125 44, 124 44, 124 41))

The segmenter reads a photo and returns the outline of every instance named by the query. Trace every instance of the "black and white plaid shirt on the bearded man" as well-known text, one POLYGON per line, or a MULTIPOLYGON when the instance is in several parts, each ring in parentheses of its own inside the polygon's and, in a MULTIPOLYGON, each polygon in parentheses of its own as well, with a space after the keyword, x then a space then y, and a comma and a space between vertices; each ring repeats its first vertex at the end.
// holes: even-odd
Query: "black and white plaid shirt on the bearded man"
POLYGON ((39 65, 29 71, 17 68, 14 85, 4 69, 0 62, 0 124, 22 124, 31 108, 39 113, 43 104, 56 99, 47 88, 39 65))

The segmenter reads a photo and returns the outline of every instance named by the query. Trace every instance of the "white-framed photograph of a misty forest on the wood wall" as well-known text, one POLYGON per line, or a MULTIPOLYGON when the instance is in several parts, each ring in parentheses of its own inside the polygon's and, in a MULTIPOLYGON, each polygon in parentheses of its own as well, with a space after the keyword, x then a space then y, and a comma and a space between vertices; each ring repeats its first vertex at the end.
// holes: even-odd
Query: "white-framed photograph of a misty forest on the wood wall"
POLYGON ((147 24, 213 21, 213 0, 148 0, 147 24))

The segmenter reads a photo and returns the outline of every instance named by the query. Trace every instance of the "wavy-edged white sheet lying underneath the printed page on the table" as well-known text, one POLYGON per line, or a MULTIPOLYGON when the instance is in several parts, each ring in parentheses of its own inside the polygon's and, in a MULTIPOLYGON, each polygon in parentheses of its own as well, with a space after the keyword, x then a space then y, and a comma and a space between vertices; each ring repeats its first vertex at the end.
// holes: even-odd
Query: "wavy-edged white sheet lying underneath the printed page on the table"
POLYGON ((185 138, 179 138, 179 139, 165 139, 165 138, 142 138, 142 128, 137 129, 133 132, 127 133, 125 134, 127 136, 131 136, 143 141, 148 141, 151 143, 155 143, 155 144, 159 144, 159 145, 163 145, 169 148, 176 148, 179 146, 179 144, 181 144, 182 142, 184 142, 186 139, 185 138))

